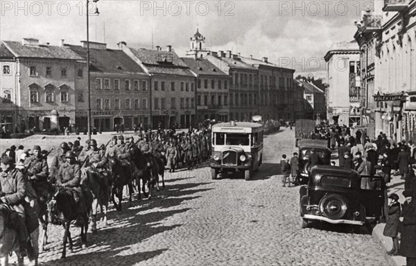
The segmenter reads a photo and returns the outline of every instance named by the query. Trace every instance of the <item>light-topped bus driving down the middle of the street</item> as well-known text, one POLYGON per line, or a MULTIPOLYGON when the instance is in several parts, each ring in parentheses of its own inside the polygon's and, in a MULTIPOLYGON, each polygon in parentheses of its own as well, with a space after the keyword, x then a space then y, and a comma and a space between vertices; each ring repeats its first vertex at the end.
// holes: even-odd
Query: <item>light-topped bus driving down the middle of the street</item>
POLYGON ((212 130, 211 178, 244 172, 245 180, 259 169, 263 159, 263 125, 252 122, 215 124, 212 130))

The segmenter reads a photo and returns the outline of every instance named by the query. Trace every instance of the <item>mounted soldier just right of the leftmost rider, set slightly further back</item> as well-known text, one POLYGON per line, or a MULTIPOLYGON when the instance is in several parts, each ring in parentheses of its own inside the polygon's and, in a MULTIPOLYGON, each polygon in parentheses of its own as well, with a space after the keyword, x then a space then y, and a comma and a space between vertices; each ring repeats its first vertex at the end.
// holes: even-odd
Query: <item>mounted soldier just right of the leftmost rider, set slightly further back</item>
POLYGON ((32 185, 40 202, 46 201, 49 197, 50 185, 48 183, 49 167, 46 159, 41 154, 40 146, 33 147, 33 155, 26 158, 26 175, 28 181, 32 185))

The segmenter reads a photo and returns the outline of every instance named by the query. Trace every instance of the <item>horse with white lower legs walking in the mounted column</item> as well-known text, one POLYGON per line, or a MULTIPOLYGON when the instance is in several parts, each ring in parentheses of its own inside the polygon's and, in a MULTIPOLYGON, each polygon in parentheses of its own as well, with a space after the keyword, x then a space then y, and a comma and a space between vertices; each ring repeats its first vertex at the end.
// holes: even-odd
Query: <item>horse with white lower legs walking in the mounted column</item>
POLYGON ((109 183, 107 176, 103 176, 98 169, 94 168, 82 168, 82 181, 81 184, 87 185, 92 192, 92 232, 97 230, 97 210, 98 204, 100 205, 101 213, 103 213, 103 223, 107 225, 107 209, 109 201, 109 183))

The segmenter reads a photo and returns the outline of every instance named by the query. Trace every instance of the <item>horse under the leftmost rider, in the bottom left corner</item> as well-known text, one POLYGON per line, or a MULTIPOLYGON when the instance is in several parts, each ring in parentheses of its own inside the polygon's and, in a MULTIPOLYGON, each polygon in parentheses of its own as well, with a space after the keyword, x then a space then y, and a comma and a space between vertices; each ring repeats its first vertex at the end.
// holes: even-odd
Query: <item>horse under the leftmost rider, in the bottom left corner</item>
MULTIPOLYGON (((13 210, 7 204, 0 204, 0 265, 9 265, 8 256, 9 253, 15 252, 17 256, 18 265, 24 265, 24 258, 19 256, 19 239, 15 229, 7 226, 11 224, 11 217, 13 210)), ((37 265, 37 259, 39 258, 39 228, 36 228, 31 234, 31 241, 27 248, 29 260, 34 262, 34 265, 37 265)))

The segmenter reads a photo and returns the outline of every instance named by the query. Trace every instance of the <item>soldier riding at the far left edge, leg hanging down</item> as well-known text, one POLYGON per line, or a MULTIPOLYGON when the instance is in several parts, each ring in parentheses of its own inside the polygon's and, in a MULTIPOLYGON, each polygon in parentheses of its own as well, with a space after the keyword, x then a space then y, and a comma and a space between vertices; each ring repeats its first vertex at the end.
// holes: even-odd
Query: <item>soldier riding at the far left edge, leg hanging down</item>
POLYGON ((0 201, 10 205, 17 213, 15 220, 10 221, 10 226, 15 229, 19 238, 20 252, 19 256, 26 256, 26 244, 28 241, 28 230, 26 228, 26 213, 24 205, 24 197, 26 197, 26 178, 13 165, 13 159, 10 157, 1 158, 0 177, 0 201))

